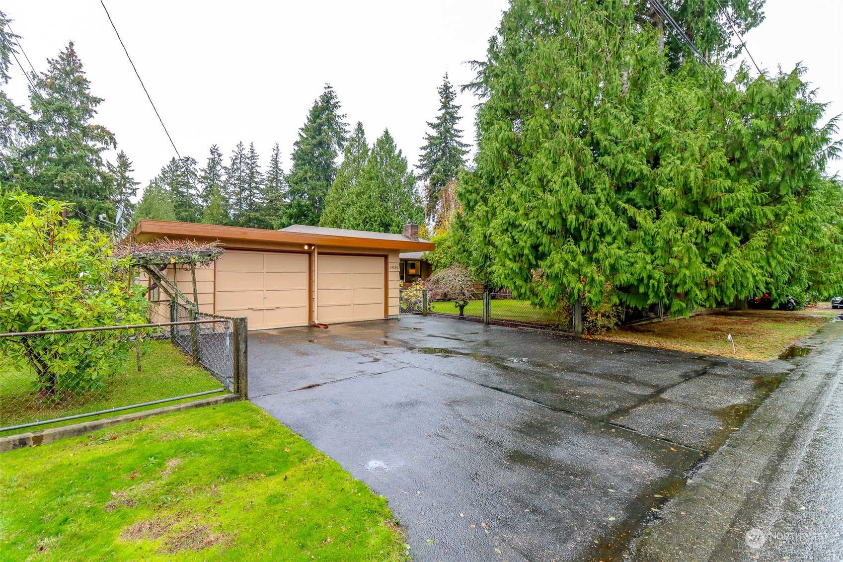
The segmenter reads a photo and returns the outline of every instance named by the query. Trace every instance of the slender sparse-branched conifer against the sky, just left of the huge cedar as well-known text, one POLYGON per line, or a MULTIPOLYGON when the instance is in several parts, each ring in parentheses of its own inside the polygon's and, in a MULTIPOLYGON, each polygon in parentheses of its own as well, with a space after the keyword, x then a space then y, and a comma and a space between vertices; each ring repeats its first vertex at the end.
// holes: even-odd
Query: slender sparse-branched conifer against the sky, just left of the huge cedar
POLYGON ((436 222, 439 213, 440 194, 451 181, 457 179, 459 170, 465 167, 465 155, 469 145, 462 142, 462 129, 457 128, 461 117, 459 105, 454 104, 456 93, 448 74, 439 87, 439 115, 434 122, 427 122, 432 129, 425 135, 427 142, 421 147, 419 177, 426 181, 425 213, 427 219, 436 222))

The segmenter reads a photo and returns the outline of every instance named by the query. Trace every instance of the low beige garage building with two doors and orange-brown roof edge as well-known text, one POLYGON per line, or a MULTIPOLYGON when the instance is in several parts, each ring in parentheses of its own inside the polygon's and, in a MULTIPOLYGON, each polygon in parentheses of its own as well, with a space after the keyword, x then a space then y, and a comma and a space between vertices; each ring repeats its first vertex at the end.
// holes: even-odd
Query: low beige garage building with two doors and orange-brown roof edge
MULTIPOLYGON (((262 329, 398 315, 400 251, 434 247, 417 232, 415 224, 398 235, 301 224, 264 230, 142 219, 131 236, 138 242, 218 241, 225 249, 222 257, 196 268, 199 310, 247 316, 250 329, 262 329)), ((167 277, 192 295, 189 269, 169 266, 167 277)), ((142 276, 141 282, 148 279, 142 276)))

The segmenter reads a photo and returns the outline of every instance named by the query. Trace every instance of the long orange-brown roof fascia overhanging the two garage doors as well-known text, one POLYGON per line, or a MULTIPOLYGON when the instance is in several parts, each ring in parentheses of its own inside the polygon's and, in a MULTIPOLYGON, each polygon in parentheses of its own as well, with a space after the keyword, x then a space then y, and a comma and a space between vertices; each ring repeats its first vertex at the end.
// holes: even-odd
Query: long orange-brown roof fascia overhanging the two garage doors
POLYGON ((163 238, 190 240, 220 240, 223 246, 231 246, 239 240, 279 244, 315 244, 349 248, 387 248, 389 250, 432 251, 432 242, 417 240, 384 240, 358 236, 316 235, 283 230, 247 229, 239 226, 218 224, 177 223, 169 220, 141 219, 130 235, 138 242, 163 238))

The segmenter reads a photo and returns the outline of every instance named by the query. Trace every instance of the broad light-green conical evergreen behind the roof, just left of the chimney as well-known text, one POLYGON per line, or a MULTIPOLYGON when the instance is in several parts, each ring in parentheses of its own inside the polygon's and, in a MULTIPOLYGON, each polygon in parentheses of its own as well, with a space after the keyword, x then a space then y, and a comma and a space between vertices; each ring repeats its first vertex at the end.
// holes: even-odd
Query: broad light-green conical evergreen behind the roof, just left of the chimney
POLYGON ((424 218, 416 178, 389 131, 375 141, 356 185, 347 193, 343 228, 400 233, 424 218))

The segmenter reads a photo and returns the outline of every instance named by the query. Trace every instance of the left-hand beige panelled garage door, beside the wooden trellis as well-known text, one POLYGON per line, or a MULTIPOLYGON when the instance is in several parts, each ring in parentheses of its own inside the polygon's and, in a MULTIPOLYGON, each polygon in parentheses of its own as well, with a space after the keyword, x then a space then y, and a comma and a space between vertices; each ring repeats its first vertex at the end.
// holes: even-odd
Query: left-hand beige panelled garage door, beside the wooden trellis
POLYGON ((249 329, 309 322, 307 254, 229 250, 217 261, 217 314, 248 316, 249 329))

